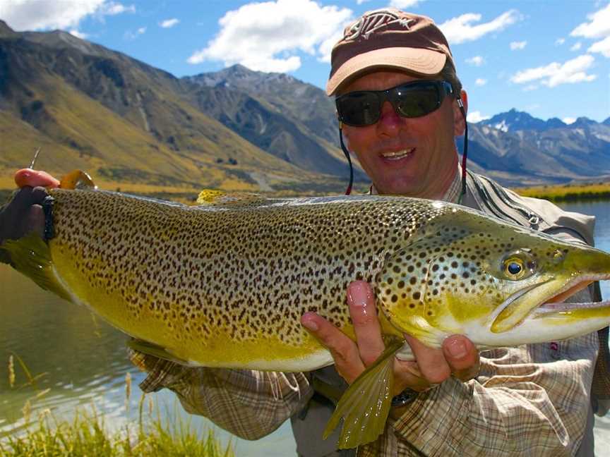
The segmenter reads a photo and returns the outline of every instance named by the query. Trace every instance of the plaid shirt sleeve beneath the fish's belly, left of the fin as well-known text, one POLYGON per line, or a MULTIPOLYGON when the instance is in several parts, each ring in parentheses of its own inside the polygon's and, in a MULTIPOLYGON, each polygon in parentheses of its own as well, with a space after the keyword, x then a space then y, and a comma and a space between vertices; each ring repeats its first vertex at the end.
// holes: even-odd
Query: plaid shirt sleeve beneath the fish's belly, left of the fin
POLYGON ((131 351, 147 371, 145 392, 174 391, 184 409, 244 439, 259 439, 299 412, 313 395, 304 373, 185 367, 131 351))

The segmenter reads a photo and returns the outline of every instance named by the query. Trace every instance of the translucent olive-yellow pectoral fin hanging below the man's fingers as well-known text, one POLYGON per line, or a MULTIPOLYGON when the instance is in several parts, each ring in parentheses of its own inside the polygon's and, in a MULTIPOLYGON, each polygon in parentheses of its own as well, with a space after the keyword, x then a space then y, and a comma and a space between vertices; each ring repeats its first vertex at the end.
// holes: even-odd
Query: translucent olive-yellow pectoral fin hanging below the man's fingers
POLYGON ((383 433, 390 413, 393 390, 394 355, 402 348, 402 339, 386 342, 385 351, 352 383, 341 397, 331 416, 324 439, 343 419, 343 427, 337 446, 350 449, 369 443, 383 433))

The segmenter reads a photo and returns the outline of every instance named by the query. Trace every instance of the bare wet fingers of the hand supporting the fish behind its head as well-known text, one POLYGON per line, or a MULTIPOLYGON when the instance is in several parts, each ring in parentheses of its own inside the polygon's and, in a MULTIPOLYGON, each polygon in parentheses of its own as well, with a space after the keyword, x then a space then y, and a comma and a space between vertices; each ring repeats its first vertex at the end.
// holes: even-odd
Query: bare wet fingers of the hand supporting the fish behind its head
MULTIPOLYGON (((364 281, 354 281, 347 288, 349 314, 354 323, 356 342, 313 312, 301 317, 301 323, 330 351, 337 372, 352 384, 371 365, 385 348, 381 339, 381 327, 377 319, 375 298, 371 286, 364 281)), ((394 395, 407 387, 414 391, 426 391, 448 379, 452 374, 467 381, 479 372, 479 351, 462 335, 449 336, 442 349, 433 349, 406 336, 417 361, 394 361, 394 395)))

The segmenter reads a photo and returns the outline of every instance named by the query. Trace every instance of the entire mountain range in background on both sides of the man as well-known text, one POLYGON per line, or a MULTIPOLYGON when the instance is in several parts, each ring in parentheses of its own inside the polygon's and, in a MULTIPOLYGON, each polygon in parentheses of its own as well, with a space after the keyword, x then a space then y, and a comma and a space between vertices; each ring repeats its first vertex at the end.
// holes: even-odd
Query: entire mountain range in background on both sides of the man
MULTIPOLYGON (((469 129, 470 168, 501 183, 610 176, 610 118, 568 126, 512 109, 469 129)), ((66 32, 1 21, 0 135, 0 189, 37 147, 42 169, 83 169, 138 193, 341 193, 347 183, 333 100, 318 87, 239 65, 176 78, 66 32)), ((355 174, 366 188, 357 164, 355 174)))

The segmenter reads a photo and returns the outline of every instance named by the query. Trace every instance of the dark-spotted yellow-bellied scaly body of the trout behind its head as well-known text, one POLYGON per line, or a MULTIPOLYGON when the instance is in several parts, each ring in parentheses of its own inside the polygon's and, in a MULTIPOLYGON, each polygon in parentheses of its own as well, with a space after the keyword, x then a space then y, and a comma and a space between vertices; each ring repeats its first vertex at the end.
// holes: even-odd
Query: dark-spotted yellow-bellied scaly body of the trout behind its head
POLYGON ((319 353, 299 322, 304 312, 350 327, 349 282, 374 283, 386 253, 447 211, 384 197, 323 208, 315 199, 185 207, 101 191, 51 194, 53 262, 70 272, 63 280, 78 300, 178 358, 282 370, 291 360, 294 370, 311 369, 319 353), (96 305, 105 300, 113 305, 96 305))

